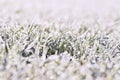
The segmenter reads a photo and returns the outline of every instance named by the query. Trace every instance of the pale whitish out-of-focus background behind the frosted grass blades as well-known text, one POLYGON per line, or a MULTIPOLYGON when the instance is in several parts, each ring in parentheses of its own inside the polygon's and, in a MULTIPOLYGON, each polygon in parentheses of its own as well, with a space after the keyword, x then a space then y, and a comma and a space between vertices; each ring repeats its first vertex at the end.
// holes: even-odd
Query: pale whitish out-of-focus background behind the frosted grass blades
POLYGON ((110 27, 120 23, 119 4, 120 0, 0 0, 0 21, 10 25, 59 22, 110 27))

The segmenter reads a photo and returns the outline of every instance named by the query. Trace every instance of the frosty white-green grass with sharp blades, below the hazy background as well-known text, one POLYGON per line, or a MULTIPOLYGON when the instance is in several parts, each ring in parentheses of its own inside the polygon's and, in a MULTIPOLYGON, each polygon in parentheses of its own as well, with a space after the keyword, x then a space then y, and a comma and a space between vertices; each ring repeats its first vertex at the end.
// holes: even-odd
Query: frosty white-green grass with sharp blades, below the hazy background
POLYGON ((80 26, 75 34, 38 24, 1 29, 7 30, 0 44, 5 79, 119 78, 119 41, 107 32, 80 26))

